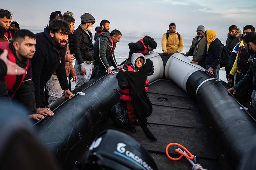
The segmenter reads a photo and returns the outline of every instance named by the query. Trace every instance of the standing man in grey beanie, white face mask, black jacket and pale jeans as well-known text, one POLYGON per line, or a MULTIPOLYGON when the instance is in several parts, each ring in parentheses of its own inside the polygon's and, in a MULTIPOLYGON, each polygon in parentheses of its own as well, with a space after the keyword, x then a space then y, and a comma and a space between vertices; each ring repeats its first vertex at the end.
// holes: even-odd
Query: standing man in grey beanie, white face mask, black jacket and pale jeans
POLYGON ((85 13, 81 16, 81 25, 70 36, 70 53, 75 54, 75 72, 77 74, 78 88, 89 81, 93 72, 93 25, 94 17, 85 13))

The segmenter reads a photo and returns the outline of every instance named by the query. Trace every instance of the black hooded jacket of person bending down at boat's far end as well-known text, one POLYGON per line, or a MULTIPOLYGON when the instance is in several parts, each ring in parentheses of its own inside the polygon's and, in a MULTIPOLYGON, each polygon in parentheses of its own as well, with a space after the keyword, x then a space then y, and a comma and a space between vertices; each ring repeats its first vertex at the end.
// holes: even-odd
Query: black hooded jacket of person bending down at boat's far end
MULTIPOLYGON (((148 35, 146 35, 143 38, 143 43, 145 44, 145 46, 147 47, 147 45, 149 45, 149 41, 154 40, 153 38, 149 37, 148 35)), ((133 53, 137 53, 136 51, 143 51, 144 50, 144 45, 142 44, 142 42, 130 42, 128 44, 130 52, 129 52, 129 58, 131 59, 132 54, 133 53)))

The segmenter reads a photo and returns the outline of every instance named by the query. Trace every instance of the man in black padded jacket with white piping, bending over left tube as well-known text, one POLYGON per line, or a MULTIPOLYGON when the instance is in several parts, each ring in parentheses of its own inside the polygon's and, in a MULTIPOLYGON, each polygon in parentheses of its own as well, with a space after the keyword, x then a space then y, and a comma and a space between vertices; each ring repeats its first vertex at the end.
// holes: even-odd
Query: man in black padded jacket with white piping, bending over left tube
POLYGON ((93 77, 97 77, 100 74, 106 72, 108 74, 114 74, 109 68, 113 66, 114 68, 122 68, 117 65, 114 50, 116 48, 116 43, 121 39, 121 32, 118 30, 113 30, 111 33, 105 32, 100 34, 99 38, 93 44, 94 56, 95 56, 95 68, 93 70, 93 77))

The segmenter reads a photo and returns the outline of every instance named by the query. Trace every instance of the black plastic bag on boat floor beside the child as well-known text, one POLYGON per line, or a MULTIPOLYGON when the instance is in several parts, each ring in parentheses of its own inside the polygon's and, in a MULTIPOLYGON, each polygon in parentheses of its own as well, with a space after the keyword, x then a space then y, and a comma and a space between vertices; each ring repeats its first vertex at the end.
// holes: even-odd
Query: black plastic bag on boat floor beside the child
POLYGON ((128 127, 129 122, 126 103, 120 100, 118 104, 112 106, 110 118, 117 126, 122 128, 128 127))

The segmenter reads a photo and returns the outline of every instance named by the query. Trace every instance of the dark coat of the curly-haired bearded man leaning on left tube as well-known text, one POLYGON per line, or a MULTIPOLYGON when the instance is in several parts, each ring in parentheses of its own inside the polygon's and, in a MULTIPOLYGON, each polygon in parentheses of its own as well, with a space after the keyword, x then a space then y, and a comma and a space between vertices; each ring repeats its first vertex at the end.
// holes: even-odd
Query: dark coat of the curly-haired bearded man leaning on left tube
POLYGON ((58 47, 54 38, 50 36, 50 30, 44 28, 44 32, 37 33, 37 45, 35 55, 32 58, 32 70, 33 70, 33 82, 35 86, 35 101, 37 108, 45 107, 43 104, 45 101, 44 86, 46 82, 51 78, 53 72, 56 71, 56 75, 60 82, 61 89, 68 89, 68 81, 65 70, 65 54, 66 48, 61 49, 58 47))

